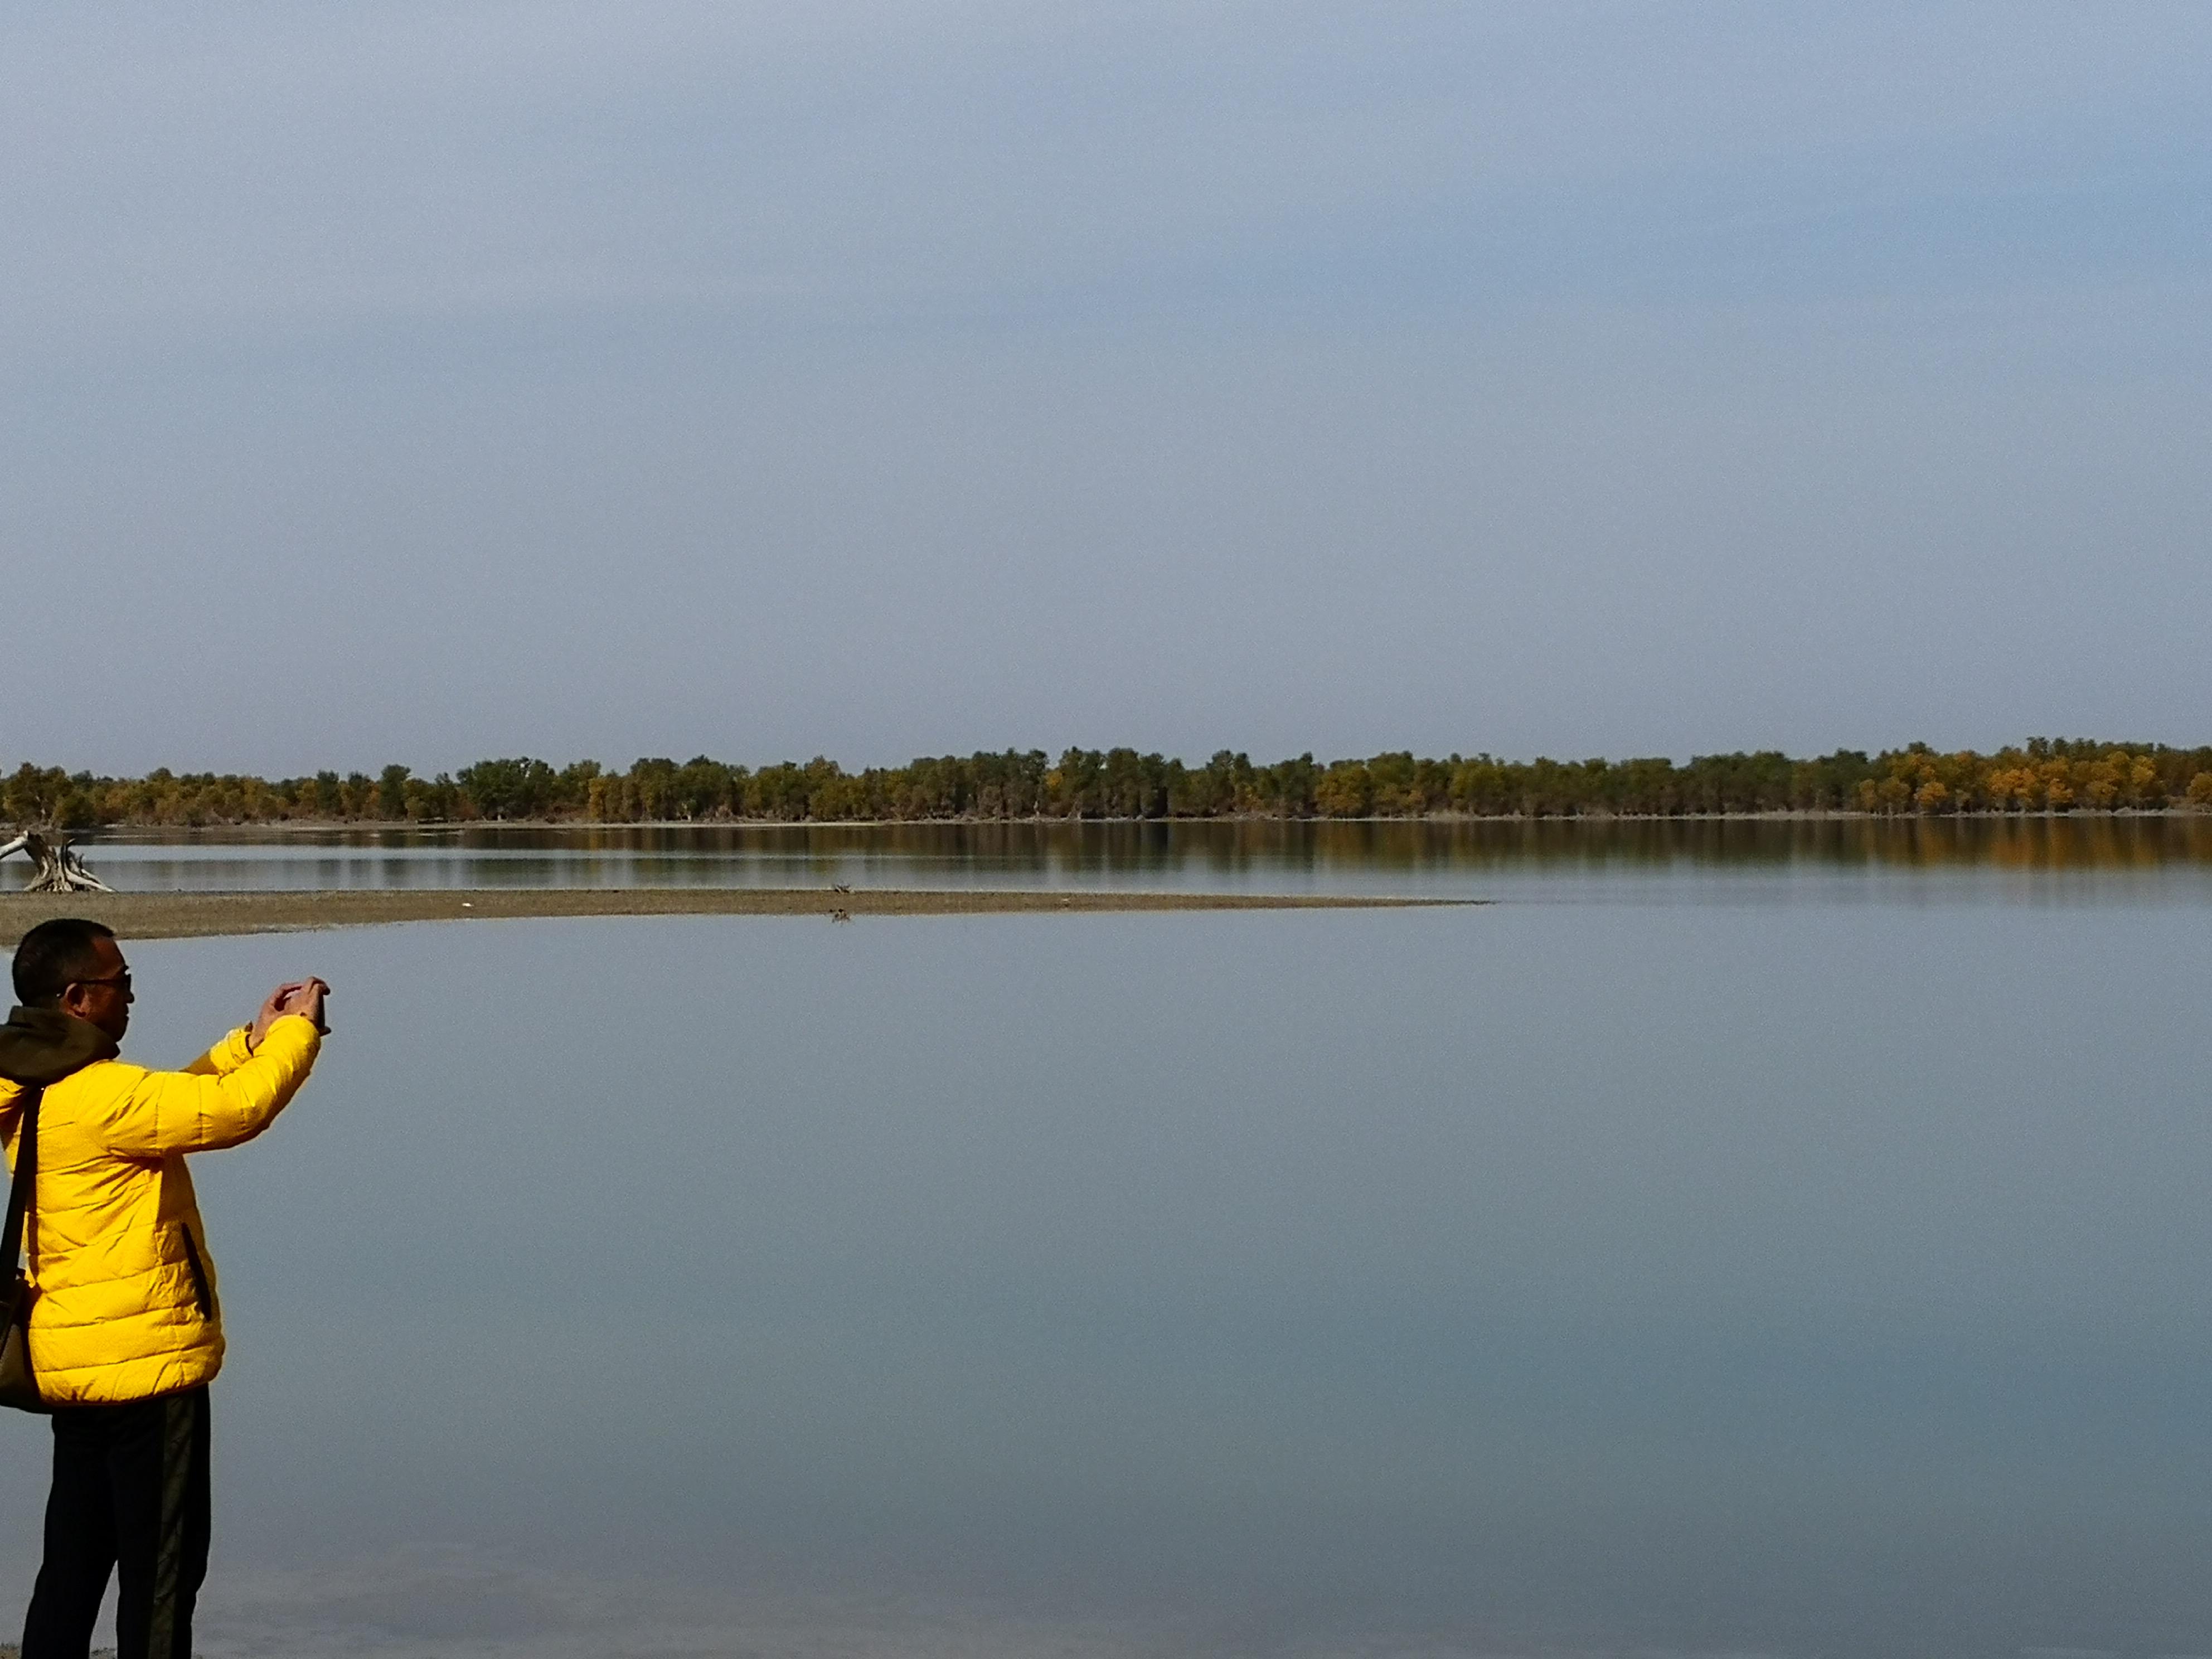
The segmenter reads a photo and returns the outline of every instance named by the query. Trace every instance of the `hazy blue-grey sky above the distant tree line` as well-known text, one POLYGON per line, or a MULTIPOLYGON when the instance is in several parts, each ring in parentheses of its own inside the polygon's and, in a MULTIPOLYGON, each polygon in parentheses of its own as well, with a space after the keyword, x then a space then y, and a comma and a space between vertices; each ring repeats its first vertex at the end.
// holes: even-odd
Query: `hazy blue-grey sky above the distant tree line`
POLYGON ((2212 737, 2194 4, 11 7, 0 761, 2212 737))

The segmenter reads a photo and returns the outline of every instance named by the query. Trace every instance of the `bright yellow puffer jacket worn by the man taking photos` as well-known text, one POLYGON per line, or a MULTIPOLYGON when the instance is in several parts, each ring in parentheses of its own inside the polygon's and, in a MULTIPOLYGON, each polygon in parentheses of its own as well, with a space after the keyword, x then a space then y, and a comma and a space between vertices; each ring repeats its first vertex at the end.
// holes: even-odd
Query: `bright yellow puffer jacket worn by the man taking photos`
MULTIPOLYGON (((69 1020, 18 1009, 9 1035, 24 1018, 69 1020)), ((82 1020, 69 1024, 91 1031, 82 1020)), ((319 1048, 314 1022, 285 1015, 252 1053, 241 1029, 184 1071, 97 1057, 46 1084, 29 1256, 38 1290, 31 1371, 49 1405, 146 1400, 199 1387, 221 1369, 215 1259, 184 1157, 265 1130, 307 1079, 319 1048)), ((100 1037, 100 1053, 113 1055, 115 1044, 100 1037)), ((0 1077, 9 1168, 22 1088, 0 1077)))

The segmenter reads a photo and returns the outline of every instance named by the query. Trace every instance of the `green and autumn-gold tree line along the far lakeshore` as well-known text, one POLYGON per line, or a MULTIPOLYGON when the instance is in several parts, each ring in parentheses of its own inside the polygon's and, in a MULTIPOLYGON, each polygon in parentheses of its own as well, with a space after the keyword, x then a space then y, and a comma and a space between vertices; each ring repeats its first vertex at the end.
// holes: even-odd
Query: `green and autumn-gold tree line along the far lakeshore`
POLYGON ((0 821, 93 830, 288 821, 759 821, 854 823, 931 818, 1573 818, 1761 812, 2154 812, 2212 810, 2212 745, 2097 743, 2037 737, 1995 754, 1927 743, 1816 759, 1699 754, 1630 761, 1502 761, 1491 754, 1254 765, 1221 750, 1203 765, 1137 750, 1044 750, 922 757, 847 772, 836 761, 745 768, 706 754, 555 768, 518 757, 416 776, 316 772, 259 779, 170 772, 111 779, 31 761, 0 783, 0 821))

